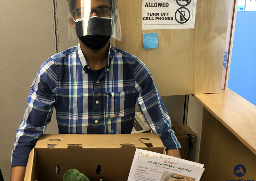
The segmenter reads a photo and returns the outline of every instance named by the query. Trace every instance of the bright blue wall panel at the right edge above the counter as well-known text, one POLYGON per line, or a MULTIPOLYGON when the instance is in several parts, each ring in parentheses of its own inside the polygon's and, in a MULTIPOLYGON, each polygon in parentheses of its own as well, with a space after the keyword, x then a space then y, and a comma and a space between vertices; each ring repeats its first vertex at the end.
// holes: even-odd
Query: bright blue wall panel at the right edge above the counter
POLYGON ((256 105, 256 11, 237 11, 228 88, 256 105))

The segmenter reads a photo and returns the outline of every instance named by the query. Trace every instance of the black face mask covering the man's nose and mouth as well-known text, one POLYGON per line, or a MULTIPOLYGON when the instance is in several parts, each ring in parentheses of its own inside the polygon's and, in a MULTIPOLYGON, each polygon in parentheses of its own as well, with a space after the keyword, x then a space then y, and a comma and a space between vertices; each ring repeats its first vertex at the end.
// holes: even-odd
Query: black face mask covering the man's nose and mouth
POLYGON ((100 50, 105 47, 111 37, 111 19, 90 18, 86 36, 83 36, 82 21, 78 21, 76 22, 76 35, 87 47, 100 50))

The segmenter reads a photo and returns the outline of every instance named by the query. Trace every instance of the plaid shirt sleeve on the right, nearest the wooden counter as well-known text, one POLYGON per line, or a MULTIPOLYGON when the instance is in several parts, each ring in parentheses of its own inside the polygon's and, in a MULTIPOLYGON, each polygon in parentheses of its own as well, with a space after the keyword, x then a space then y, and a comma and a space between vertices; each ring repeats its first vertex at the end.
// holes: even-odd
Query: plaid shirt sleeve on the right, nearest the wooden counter
POLYGON ((136 104, 151 127, 151 132, 160 136, 166 151, 180 149, 171 125, 171 119, 164 107, 156 84, 147 67, 137 58, 134 69, 136 104))

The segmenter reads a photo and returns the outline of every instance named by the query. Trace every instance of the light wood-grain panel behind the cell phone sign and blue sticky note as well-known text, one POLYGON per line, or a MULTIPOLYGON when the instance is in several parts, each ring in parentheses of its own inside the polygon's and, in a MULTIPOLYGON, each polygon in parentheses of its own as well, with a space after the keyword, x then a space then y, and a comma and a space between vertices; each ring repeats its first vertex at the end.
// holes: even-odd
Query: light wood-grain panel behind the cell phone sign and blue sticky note
POLYGON ((195 29, 142 30, 142 0, 118 0, 116 47, 145 63, 161 96, 220 92, 230 2, 198 0, 195 29), (143 33, 158 33, 159 48, 144 49, 143 33))

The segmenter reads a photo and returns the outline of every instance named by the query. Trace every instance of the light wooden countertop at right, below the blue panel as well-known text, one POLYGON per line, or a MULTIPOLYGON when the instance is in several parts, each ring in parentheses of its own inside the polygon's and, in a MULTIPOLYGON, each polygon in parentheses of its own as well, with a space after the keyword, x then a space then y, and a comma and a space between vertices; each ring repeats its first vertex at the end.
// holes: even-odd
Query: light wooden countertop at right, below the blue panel
POLYGON ((230 89, 193 95, 256 155, 256 106, 230 89))

